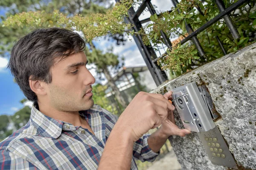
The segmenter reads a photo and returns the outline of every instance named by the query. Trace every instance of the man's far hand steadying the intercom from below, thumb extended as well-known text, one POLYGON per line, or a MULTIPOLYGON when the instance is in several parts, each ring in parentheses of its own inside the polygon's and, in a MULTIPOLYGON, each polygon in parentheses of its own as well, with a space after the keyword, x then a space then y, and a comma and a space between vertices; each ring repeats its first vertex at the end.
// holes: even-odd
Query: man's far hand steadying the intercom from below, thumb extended
MULTIPOLYGON (((166 98, 167 100, 172 100, 172 91, 167 92, 166 94, 163 95, 163 97, 166 98)), ((180 129, 179 127, 177 127, 177 125, 175 125, 175 120, 174 120, 174 115, 172 110, 169 111, 168 118, 163 120, 163 123, 159 128, 159 131, 166 137, 169 137, 171 135, 185 136, 191 133, 189 130, 180 129)))

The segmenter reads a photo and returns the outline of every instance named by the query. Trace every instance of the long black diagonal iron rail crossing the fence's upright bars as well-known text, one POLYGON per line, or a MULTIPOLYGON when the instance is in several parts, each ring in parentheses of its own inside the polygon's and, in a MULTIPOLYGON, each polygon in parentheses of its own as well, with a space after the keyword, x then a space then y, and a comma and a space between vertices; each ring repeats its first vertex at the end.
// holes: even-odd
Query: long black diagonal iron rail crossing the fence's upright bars
POLYGON ((248 0, 239 0, 236 3, 233 3, 230 7, 225 9, 223 12, 218 14, 216 17, 214 17, 212 20, 209 20, 207 23, 205 23, 203 26, 201 26, 199 29, 195 30, 191 34, 189 34, 186 38, 181 40, 181 45, 186 43, 188 40, 190 40, 194 35, 198 35, 200 32, 204 31, 205 29, 212 26, 212 24, 216 23, 220 18, 222 18, 224 15, 229 14, 230 12, 237 9, 239 6, 241 6, 243 3, 245 3, 248 0))

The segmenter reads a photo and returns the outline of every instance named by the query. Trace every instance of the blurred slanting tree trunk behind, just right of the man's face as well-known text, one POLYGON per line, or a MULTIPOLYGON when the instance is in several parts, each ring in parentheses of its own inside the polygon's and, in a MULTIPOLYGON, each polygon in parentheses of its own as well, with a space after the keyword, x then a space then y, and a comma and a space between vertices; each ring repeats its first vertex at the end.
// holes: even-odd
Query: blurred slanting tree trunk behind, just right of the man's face
POLYGON ((116 97, 117 101, 125 109, 127 107, 125 99, 122 97, 121 92, 117 88, 115 81, 113 80, 113 78, 110 75, 110 72, 108 71, 108 68, 103 69, 103 73, 105 74, 106 78, 108 79, 109 86, 111 86, 111 89, 113 90, 113 92, 115 92, 115 97, 116 97))

